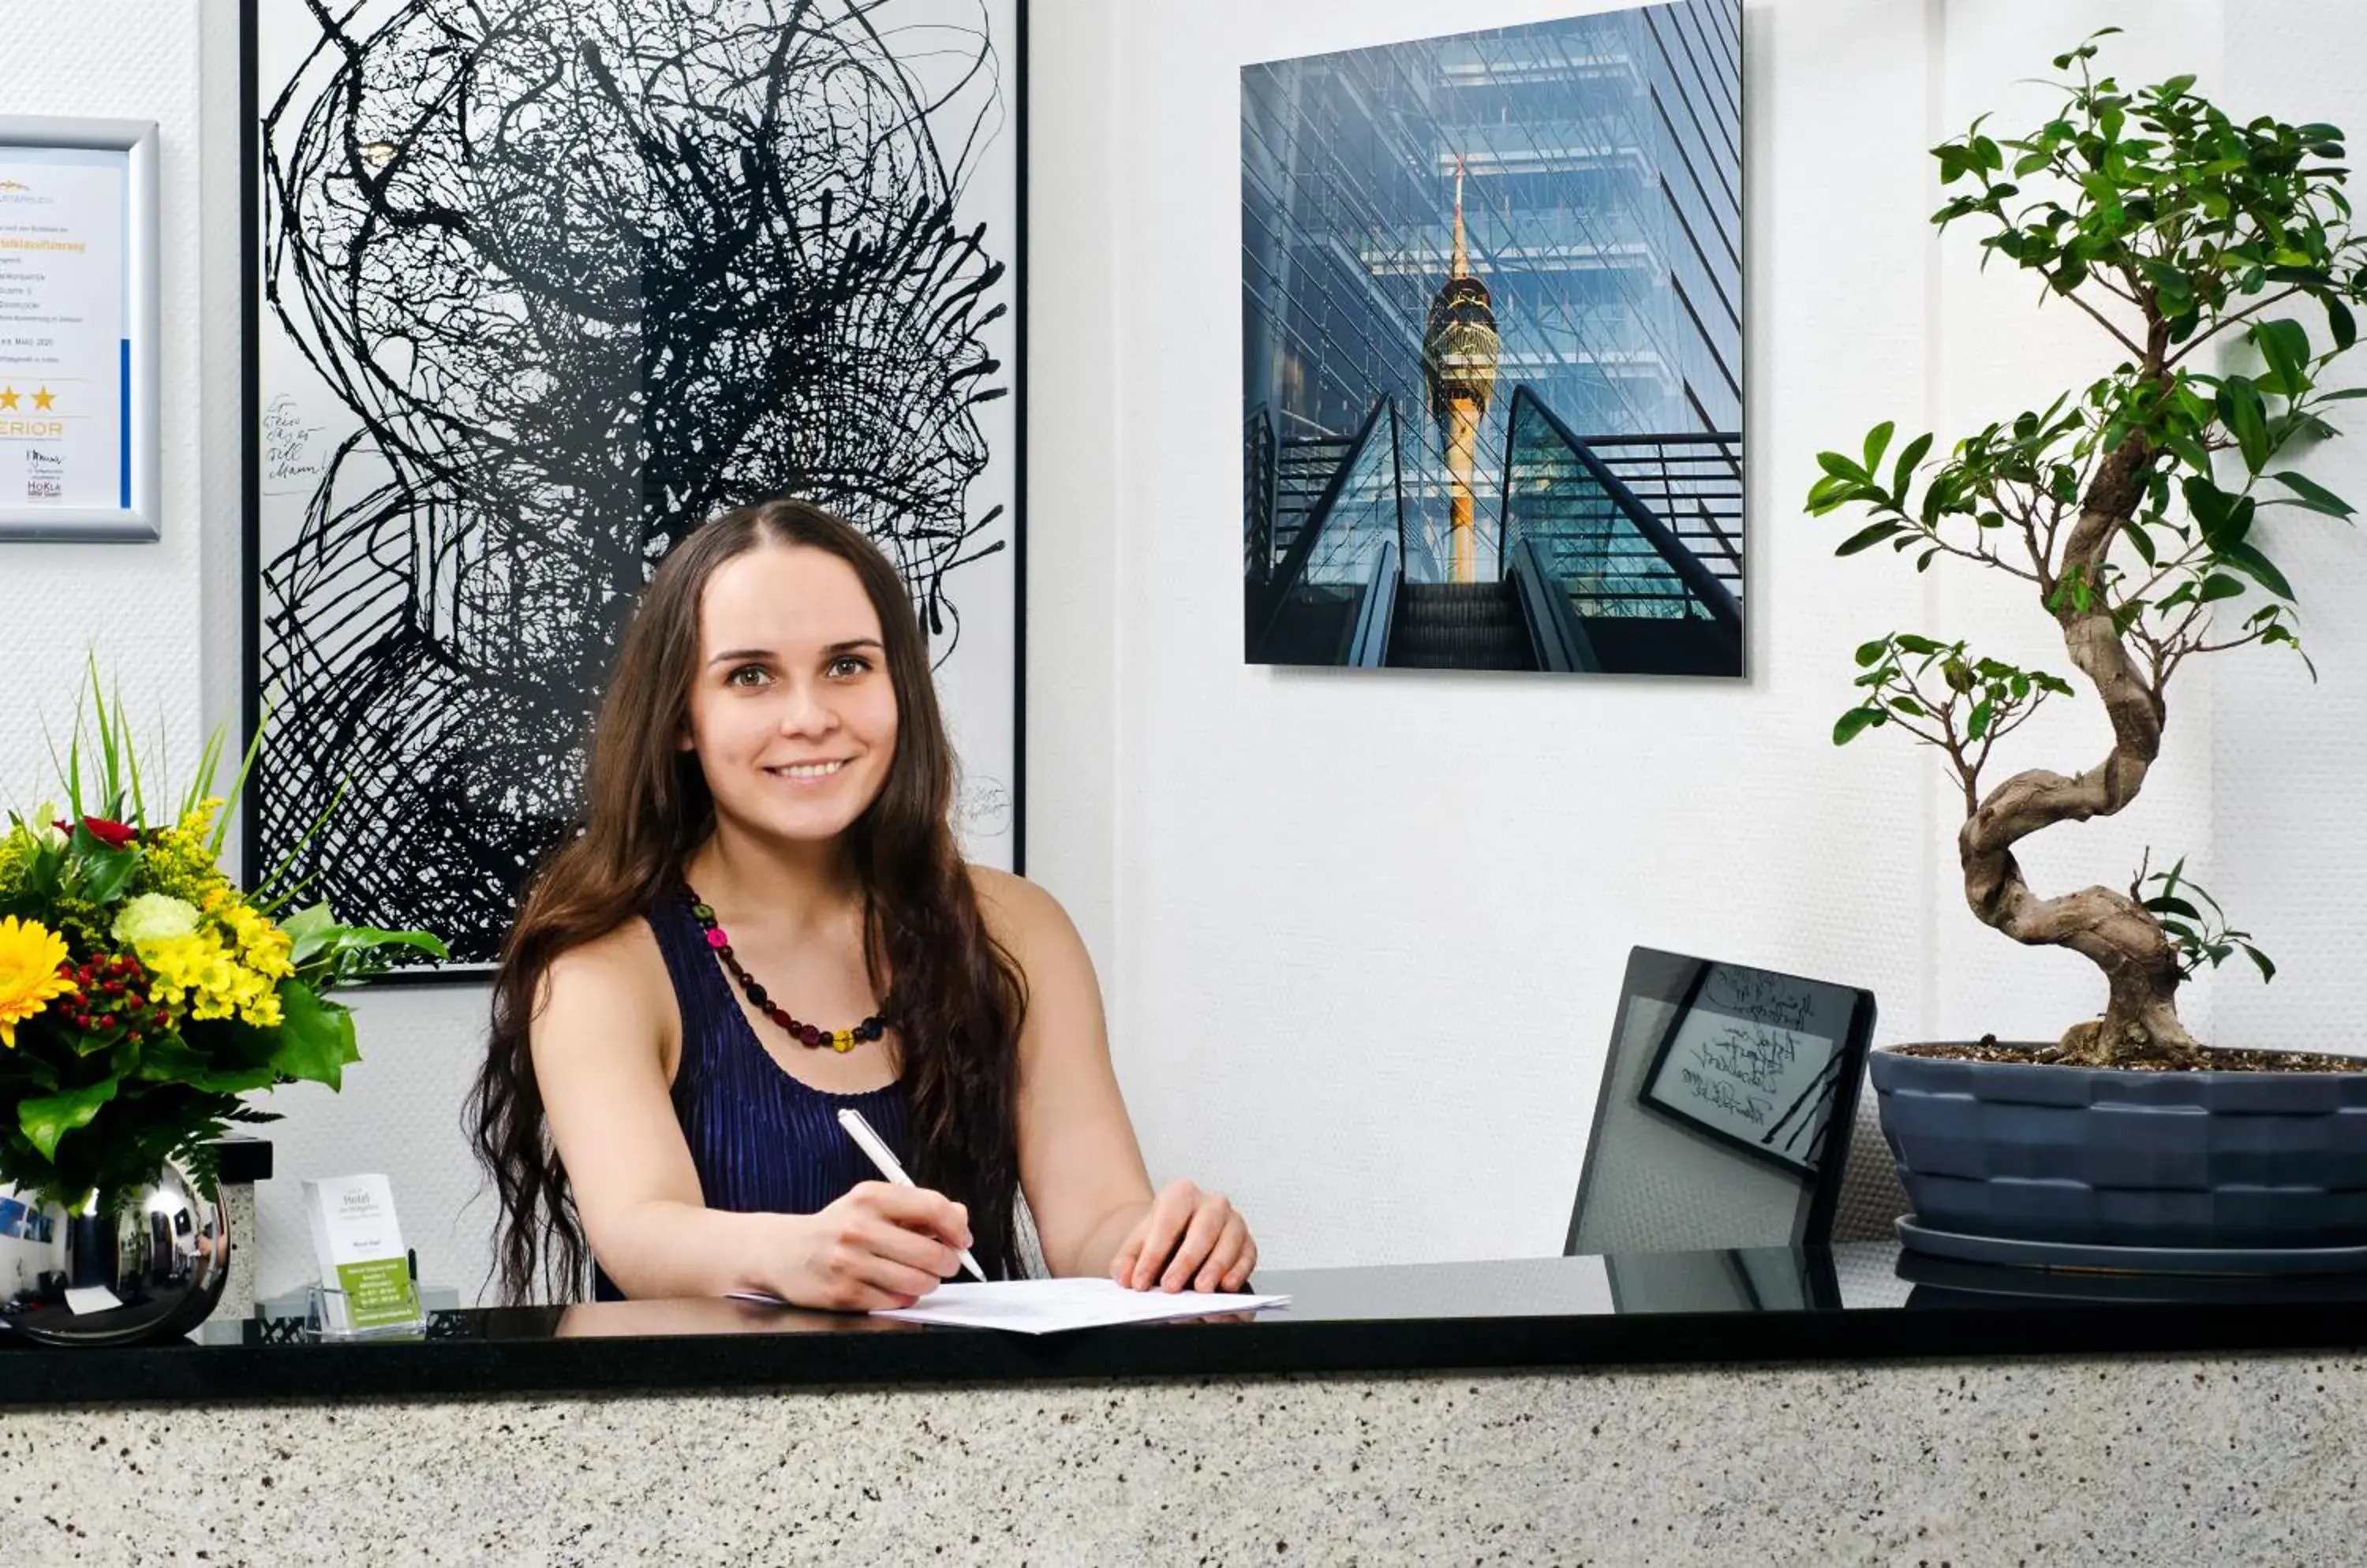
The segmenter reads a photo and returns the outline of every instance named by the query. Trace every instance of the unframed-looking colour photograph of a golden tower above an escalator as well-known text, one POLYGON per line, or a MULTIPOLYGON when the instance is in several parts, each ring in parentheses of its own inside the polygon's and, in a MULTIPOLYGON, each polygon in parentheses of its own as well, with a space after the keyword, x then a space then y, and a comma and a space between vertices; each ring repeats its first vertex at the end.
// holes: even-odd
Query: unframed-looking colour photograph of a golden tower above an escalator
POLYGON ((1240 73, 1243 655, 1740 676, 1742 0, 1240 73))

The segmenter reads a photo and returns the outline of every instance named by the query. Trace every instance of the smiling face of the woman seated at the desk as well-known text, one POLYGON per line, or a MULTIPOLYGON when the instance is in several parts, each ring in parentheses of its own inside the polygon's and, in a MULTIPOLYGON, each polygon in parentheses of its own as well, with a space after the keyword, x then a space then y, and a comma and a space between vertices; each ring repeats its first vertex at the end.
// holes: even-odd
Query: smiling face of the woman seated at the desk
POLYGON ((715 570, 682 745, 717 818, 774 840, 838 837, 888 783, 895 740, 881 617, 852 565, 769 544, 715 570))

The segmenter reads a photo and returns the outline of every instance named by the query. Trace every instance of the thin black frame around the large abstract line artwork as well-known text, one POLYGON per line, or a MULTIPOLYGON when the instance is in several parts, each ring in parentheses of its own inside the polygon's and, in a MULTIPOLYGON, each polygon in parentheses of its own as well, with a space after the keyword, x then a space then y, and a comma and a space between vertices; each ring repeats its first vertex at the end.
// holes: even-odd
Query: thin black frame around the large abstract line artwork
MULTIPOLYGON (((596 0, 594 0, 596 2, 596 0)), ((1004 104, 1008 114, 1008 166, 1013 189, 1013 229, 1008 244, 1011 350, 1001 381, 1011 397, 1011 870, 1027 870, 1027 333, 1030 333, 1030 0, 1004 0, 1011 7, 1008 50, 994 38, 997 59, 1008 61, 1004 104)), ((263 691, 263 83, 258 61, 258 24, 263 0, 239 0, 239 608, 241 608, 241 728, 253 738, 265 717, 263 691)), ((258 759, 260 766, 260 759, 258 759)), ((256 780, 251 780, 256 783, 256 780)), ((249 788, 239 804, 241 880, 256 887, 272 873, 263 835, 260 792, 249 788)), ((343 911, 341 911, 343 913, 343 911)), ((402 965, 372 984, 485 984, 495 972, 490 958, 478 963, 402 965)))

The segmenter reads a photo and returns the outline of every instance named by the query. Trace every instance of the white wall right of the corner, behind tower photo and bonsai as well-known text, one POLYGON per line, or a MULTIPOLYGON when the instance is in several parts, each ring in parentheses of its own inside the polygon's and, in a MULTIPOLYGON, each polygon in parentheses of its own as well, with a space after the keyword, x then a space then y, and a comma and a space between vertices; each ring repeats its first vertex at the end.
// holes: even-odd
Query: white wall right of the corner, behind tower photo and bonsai
MULTIPOLYGON (((1484 0, 1453 26, 1572 9, 1484 0)), ((1153 1166, 1226 1183, 1271 1256, 1550 1251, 1636 941, 1868 984, 1891 1041, 2052 1036, 2095 1010, 2085 963, 2019 951, 1965 911, 1936 759, 1891 733, 1827 743, 1865 636, 1972 636, 2069 674, 2059 643, 1979 575, 1834 561, 1849 525, 1801 518, 1799 497, 1813 452, 1877 419, 1953 440, 2111 367, 2083 317, 2033 310, 2026 281, 1981 274, 1969 237, 1934 241, 1924 222, 1941 201, 1924 149, 1981 109, 2043 104, 2017 83, 2109 21, 2130 28, 2109 69, 2218 88, 2213 0, 1747 9, 1754 674, 1709 686, 1238 662, 1238 279, 1210 244, 1238 234, 1238 66, 1434 33, 1439 12, 1124 9, 1117 1052, 1153 1166)), ((2367 21, 2320 21, 2263 17, 2258 76, 2303 47, 2355 57, 2339 40, 2367 21)), ((1039 163, 1039 210, 1084 196, 1039 163)), ((2031 844, 2040 889, 2126 882, 2145 844, 2230 880, 2211 854, 2211 676, 2187 674, 2128 821, 2031 844)), ((2268 721, 2296 693, 2246 700, 2268 721)), ((2104 731, 2069 705, 2021 740, 1993 778, 2085 766, 2104 731)), ((2313 799, 2343 809, 2331 780, 2313 799)), ((2310 908, 2298 863, 2263 858, 2239 911, 2253 929, 2339 918, 2310 908)), ((2192 1015, 2208 1026, 2208 989, 2192 1015)))

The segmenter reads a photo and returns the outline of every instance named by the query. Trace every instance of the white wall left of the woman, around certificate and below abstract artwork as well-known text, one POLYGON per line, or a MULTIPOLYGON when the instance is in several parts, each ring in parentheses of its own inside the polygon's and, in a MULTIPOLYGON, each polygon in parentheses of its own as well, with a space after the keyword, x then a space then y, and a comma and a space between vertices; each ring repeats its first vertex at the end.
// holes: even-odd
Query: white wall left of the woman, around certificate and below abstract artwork
MULTIPOLYGON (((5 21, 5 111, 156 121, 163 154, 161 539, 0 544, 0 802, 31 809, 50 795, 43 724, 71 724, 88 650, 166 721, 175 759, 239 712, 237 5, 78 0, 5 21)), ((346 1095, 270 1100, 289 1116, 267 1128, 279 1178, 258 1194, 263 1291, 310 1275, 298 1180, 355 1168, 395 1178, 431 1282, 476 1287, 485 1211, 459 1216, 476 1173, 457 1128, 483 1010, 478 989, 369 996, 346 1095)))

